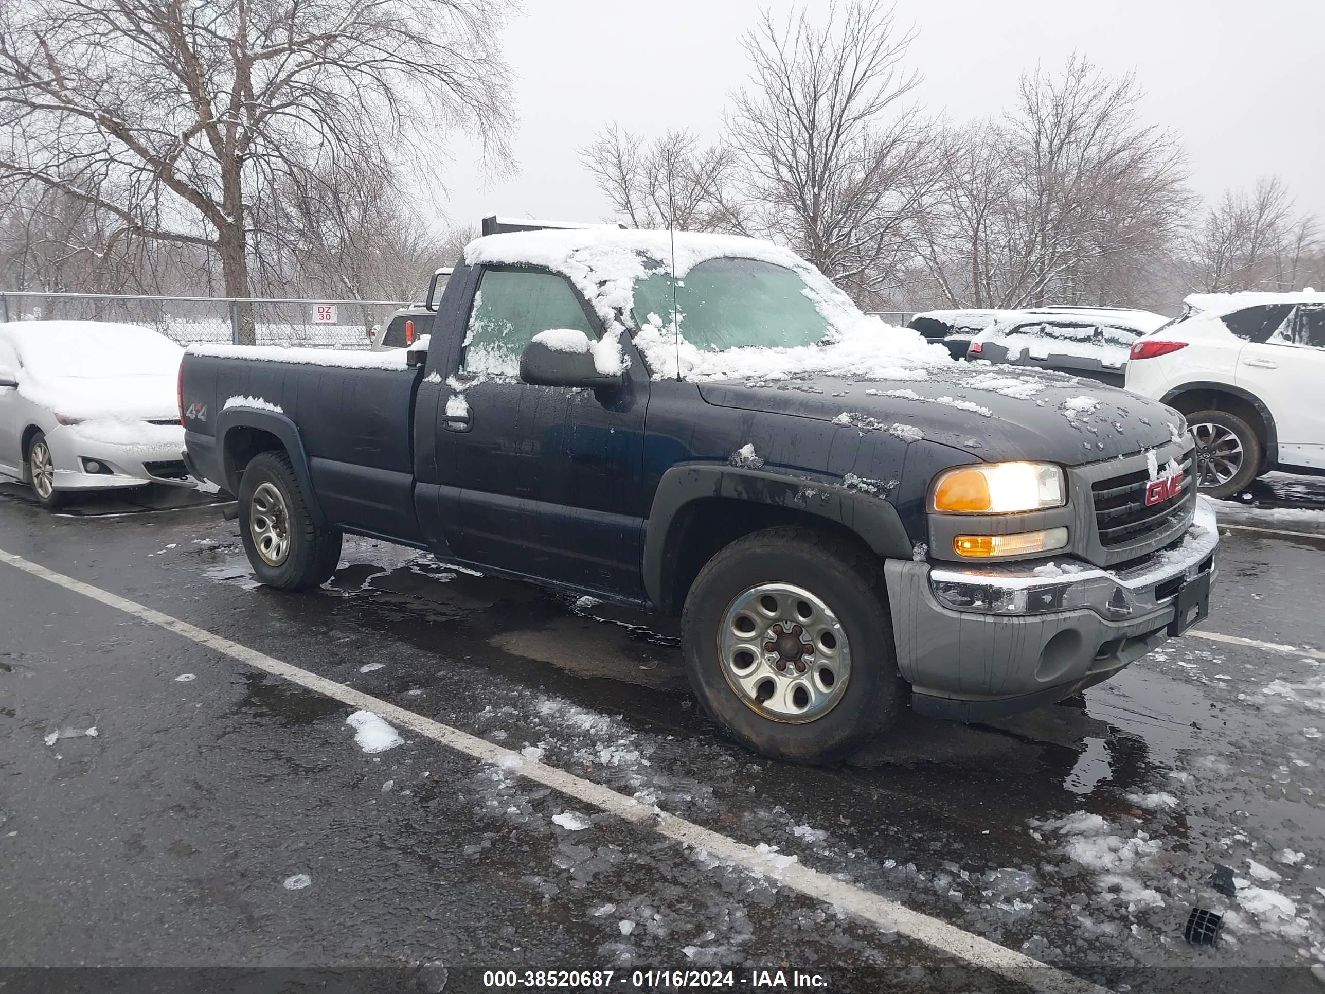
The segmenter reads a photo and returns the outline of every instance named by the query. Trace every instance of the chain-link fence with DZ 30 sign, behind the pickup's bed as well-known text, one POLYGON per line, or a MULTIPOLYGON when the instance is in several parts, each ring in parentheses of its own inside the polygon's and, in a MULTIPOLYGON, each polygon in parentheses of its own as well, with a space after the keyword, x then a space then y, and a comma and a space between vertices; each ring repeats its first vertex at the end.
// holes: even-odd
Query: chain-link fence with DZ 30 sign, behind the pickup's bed
POLYGON ((407 301, 314 301, 235 297, 36 293, 0 290, 0 321, 109 321, 155 329, 180 345, 367 349, 407 301), (249 338, 252 333, 252 338, 249 338))

